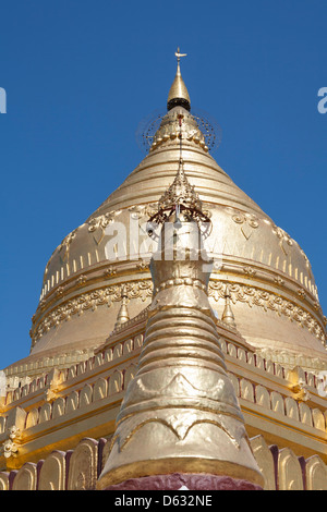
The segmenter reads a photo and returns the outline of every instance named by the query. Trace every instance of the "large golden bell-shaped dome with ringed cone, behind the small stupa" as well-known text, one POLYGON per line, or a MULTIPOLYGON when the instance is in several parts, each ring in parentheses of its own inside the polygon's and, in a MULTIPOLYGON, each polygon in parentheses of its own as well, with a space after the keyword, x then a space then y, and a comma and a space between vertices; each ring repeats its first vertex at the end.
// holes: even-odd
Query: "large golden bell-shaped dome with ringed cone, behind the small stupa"
POLYGON ((177 174, 181 129, 184 172, 211 220, 206 243, 216 265, 209 296, 218 318, 228 283, 237 329, 254 350, 282 364, 296 365, 301 358, 304 367, 327 368, 326 318, 308 258, 218 166, 189 101, 189 93, 169 97, 148 155, 53 252, 27 359, 89 355, 114 328, 123 287, 130 318, 149 305, 150 247, 148 254, 138 249, 148 243, 146 222, 177 174), (126 234, 122 243, 117 224, 126 234))

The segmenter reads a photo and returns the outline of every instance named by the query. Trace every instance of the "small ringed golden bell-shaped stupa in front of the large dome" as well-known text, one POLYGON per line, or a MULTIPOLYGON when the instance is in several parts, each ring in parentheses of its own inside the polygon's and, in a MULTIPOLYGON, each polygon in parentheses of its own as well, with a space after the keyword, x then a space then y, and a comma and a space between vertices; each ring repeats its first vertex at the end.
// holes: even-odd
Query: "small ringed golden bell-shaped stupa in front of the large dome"
POLYGON ((98 488, 172 473, 262 486, 208 302, 211 261, 197 223, 175 210, 160 242, 150 263, 154 298, 137 373, 98 488))

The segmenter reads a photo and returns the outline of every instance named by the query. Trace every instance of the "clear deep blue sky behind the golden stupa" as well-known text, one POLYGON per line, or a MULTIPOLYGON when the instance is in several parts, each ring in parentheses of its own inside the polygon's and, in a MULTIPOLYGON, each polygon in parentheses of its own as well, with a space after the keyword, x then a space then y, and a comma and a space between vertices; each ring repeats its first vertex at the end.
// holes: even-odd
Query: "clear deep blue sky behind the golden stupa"
POLYGON ((137 166, 178 46, 218 163, 307 254, 327 314, 326 0, 0 4, 1 356, 29 352, 47 260, 137 166))

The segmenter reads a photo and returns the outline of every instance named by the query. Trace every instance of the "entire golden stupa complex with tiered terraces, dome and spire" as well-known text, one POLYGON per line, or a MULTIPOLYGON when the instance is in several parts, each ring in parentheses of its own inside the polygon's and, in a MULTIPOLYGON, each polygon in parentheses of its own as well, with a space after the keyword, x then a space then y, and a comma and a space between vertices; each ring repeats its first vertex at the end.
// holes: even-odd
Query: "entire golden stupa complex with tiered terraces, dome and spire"
POLYGON ((327 489, 308 258, 210 156, 175 54, 148 155, 56 248, 31 353, 4 368, 2 489, 327 489), (206 221, 206 277, 156 260, 154 219, 190 240, 206 221))

